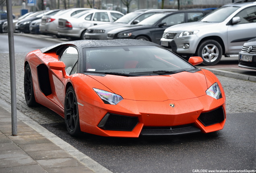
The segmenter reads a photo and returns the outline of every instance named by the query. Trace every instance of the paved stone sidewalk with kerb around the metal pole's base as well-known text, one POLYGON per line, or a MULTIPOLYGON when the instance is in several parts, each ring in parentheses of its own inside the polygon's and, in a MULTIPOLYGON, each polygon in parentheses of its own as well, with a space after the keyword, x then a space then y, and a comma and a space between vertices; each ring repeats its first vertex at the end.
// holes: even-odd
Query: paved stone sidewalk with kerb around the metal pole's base
POLYGON ((0 102, 0 173, 111 173, 19 112, 12 136, 9 110, 0 102))

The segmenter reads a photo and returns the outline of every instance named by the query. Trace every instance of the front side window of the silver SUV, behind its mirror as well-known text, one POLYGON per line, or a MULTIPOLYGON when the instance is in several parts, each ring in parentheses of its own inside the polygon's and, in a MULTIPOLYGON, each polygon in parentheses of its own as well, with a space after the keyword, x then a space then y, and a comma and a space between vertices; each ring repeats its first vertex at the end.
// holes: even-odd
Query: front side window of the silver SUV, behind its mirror
POLYGON ((238 24, 256 22, 256 7, 254 6, 246 8, 237 13, 235 16, 239 16, 241 18, 241 22, 238 22, 238 24))

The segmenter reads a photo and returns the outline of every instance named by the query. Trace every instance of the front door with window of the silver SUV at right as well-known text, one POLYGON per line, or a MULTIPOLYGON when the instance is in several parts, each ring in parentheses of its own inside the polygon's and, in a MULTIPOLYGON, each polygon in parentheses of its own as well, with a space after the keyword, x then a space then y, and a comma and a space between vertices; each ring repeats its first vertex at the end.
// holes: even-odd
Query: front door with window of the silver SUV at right
POLYGON ((227 44, 229 54, 237 54, 244 42, 256 37, 256 6, 245 8, 235 15, 241 22, 230 24, 227 28, 227 44))

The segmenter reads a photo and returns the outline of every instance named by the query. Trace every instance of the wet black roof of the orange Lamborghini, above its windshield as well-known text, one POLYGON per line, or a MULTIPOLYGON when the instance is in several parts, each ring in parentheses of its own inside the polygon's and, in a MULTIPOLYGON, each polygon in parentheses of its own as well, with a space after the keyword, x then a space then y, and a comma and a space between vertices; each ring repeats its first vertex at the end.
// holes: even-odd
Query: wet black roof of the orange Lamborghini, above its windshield
POLYGON ((153 42, 136 39, 115 39, 115 40, 77 40, 54 44, 41 48, 42 53, 57 51, 62 46, 76 46, 79 50, 83 48, 108 47, 108 46, 159 46, 153 42))

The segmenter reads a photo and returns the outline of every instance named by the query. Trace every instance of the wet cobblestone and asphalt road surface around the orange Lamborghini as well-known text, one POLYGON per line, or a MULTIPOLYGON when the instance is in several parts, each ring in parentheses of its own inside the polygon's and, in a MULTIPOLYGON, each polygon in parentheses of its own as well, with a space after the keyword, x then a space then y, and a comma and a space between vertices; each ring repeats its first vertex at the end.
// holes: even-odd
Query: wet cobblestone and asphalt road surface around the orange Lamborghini
MULTIPOLYGON (((10 103, 8 54, 5 53, 8 50, 3 48, 3 39, 6 36, 0 34, 0 99, 10 103)), ((66 132, 60 116, 42 106, 27 107, 23 96, 23 61, 26 51, 54 44, 55 41, 19 35, 14 36, 16 40, 23 40, 15 43, 20 46, 19 51, 18 47, 15 48, 15 52, 18 51, 15 54, 17 109, 113 173, 256 169, 255 82, 218 76, 226 94, 227 121, 224 129, 215 133, 137 139, 83 134, 74 138, 66 132), (31 43, 33 46, 29 46, 31 43)))

